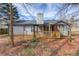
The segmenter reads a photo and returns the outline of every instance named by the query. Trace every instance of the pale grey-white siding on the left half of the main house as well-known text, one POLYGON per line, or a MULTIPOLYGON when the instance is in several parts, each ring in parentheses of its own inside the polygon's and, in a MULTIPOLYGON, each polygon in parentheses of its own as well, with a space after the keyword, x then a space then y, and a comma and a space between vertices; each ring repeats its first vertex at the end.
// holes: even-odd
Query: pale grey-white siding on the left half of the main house
POLYGON ((14 26, 13 30, 14 35, 23 35, 23 31, 26 35, 31 35, 33 33, 31 30, 31 26, 25 27, 25 30, 23 29, 23 26, 14 26))

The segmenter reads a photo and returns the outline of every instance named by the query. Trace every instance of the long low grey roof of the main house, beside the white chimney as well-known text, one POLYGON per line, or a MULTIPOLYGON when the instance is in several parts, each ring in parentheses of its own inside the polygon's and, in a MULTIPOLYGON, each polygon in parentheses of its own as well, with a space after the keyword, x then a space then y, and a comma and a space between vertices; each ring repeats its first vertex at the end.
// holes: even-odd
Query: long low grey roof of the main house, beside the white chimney
MULTIPOLYGON (((44 24, 40 24, 40 25, 48 25, 48 24, 66 24, 66 25, 69 25, 67 22, 65 21, 62 21, 62 20, 44 20, 44 24)), ((14 22, 14 25, 19 25, 19 26, 23 26, 23 25, 39 25, 36 23, 36 20, 18 20, 16 22, 14 22)))

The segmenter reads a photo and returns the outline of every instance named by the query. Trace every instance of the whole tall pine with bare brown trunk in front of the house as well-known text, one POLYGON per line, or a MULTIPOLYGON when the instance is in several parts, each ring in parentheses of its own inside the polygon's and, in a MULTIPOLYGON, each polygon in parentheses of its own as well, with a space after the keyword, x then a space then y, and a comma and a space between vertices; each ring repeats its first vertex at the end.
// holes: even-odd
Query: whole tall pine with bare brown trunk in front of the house
POLYGON ((2 17, 4 17, 6 20, 9 20, 10 22, 10 39, 12 46, 14 46, 14 40, 13 40, 13 23, 14 20, 18 19, 18 13, 16 7, 12 5, 12 3, 1 3, 0 4, 0 13, 2 17))

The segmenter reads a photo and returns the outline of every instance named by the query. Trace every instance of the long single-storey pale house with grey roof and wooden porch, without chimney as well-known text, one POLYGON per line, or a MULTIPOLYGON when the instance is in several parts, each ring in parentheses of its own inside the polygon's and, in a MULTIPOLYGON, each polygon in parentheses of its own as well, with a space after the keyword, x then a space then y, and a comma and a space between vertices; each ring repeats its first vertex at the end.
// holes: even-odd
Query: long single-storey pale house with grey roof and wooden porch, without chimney
POLYGON ((44 20, 44 24, 37 24, 36 20, 19 20, 13 26, 14 35, 47 35, 52 37, 68 36, 69 24, 64 21, 44 20), (35 29, 35 30, 34 30, 35 29))

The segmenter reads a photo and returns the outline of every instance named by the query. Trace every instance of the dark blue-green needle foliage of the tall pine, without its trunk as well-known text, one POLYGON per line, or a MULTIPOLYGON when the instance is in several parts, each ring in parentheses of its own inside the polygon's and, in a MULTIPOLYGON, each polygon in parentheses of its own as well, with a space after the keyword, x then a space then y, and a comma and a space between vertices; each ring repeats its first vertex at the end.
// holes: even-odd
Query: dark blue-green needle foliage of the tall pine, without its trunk
MULTIPOLYGON (((10 6, 9 3, 0 3, 0 15, 2 17, 5 17, 6 20, 10 20, 9 14, 10 14, 10 10, 9 10, 10 6)), ((12 5, 12 11, 13 11, 13 19, 18 19, 18 12, 16 7, 14 7, 12 5)))

